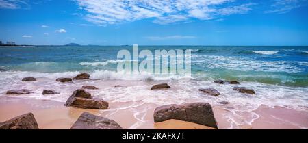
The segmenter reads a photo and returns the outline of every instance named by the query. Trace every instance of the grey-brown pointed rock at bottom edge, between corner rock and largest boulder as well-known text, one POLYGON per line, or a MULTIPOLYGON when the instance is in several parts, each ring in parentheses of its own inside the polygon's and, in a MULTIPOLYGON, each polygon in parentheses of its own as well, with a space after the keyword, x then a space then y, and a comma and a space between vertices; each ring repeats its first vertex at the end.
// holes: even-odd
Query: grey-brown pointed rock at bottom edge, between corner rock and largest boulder
POLYGON ((122 129, 114 120, 84 112, 70 129, 122 129))

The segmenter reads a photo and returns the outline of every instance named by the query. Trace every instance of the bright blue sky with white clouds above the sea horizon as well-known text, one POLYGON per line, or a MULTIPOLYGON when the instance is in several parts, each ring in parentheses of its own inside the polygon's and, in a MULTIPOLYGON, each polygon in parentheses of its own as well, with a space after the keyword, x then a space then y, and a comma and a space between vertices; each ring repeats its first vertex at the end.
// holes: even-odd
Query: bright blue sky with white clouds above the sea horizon
POLYGON ((0 41, 307 46, 308 0, 0 0, 0 41))

